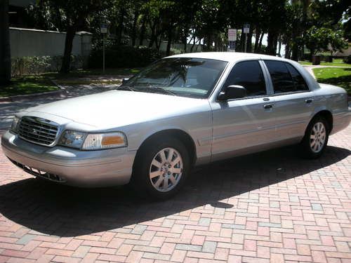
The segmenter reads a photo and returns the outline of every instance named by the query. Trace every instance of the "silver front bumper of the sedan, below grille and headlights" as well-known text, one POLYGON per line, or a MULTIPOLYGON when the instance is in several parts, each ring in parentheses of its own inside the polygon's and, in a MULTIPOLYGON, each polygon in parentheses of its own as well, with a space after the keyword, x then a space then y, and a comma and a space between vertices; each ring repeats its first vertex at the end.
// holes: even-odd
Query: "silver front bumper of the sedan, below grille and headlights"
POLYGON ((108 187, 131 179, 136 151, 126 148, 79 151, 68 147, 44 147, 10 132, 1 137, 4 154, 28 173, 77 187, 108 187), (28 168, 30 170, 28 170, 28 168), (43 173, 44 175, 44 173, 43 173))

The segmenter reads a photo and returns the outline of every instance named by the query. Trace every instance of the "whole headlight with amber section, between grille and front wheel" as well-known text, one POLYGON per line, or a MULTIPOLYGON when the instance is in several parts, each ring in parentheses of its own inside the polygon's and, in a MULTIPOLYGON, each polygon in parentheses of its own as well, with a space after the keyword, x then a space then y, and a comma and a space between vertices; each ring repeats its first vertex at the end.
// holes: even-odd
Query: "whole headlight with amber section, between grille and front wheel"
POLYGON ((66 130, 60 138, 60 145, 83 150, 110 149, 126 147, 126 136, 123 133, 88 134, 66 130))

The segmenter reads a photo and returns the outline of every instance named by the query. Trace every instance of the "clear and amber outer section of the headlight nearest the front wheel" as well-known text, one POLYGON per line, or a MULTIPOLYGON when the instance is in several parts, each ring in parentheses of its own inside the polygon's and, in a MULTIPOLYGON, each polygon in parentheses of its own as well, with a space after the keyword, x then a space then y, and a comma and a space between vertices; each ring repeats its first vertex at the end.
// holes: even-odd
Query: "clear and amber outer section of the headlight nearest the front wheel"
POLYGON ((123 133, 88 134, 82 149, 109 149, 127 146, 126 136, 123 133))

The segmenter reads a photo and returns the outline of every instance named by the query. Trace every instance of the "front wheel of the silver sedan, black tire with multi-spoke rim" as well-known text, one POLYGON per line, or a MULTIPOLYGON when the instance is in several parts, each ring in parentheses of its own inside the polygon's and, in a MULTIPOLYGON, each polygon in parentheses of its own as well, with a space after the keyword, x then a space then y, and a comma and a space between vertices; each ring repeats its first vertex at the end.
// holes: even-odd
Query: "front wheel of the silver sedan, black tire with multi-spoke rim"
POLYGON ((133 167, 132 186, 139 194, 166 199, 178 193, 190 172, 187 148, 174 137, 143 145, 133 167))

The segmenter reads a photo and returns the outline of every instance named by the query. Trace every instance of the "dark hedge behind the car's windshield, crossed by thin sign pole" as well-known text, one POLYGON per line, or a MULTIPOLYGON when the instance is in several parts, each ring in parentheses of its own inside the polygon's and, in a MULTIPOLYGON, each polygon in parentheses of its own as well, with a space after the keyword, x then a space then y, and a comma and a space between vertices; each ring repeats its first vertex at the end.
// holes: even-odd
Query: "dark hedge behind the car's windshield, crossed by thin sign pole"
MULTIPOLYGON (((113 46, 105 50, 106 67, 145 67, 161 58, 152 48, 133 46, 113 46)), ((93 50, 88 59, 88 67, 102 67, 102 50, 93 50)))

